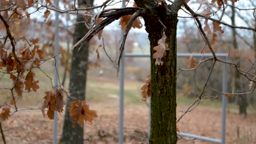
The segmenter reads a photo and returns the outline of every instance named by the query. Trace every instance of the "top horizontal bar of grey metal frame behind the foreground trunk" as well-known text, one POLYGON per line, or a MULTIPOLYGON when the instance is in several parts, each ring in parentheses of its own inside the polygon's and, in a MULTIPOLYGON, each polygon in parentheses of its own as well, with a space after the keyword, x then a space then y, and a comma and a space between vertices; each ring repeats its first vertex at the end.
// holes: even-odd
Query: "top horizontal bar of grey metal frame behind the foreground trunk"
MULTIPOLYGON (((194 57, 212 57, 212 53, 177 53, 177 57, 189 57, 193 55, 194 57)), ((217 57, 228 57, 228 53, 216 53, 217 57)), ((150 57, 150 54, 144 53, 125 53, 125 57, 150 57)))

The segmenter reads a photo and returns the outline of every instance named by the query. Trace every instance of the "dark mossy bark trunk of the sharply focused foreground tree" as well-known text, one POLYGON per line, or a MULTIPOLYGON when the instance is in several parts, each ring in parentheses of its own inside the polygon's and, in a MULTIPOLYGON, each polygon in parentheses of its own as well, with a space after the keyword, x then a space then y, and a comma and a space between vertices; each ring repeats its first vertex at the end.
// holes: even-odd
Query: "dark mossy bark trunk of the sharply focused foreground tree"
POLYGON ((150 40, 151 61, 151 131, 149 143, 177 143, 176 135, 176 55, 177 55, 177 11, 184 1, 174 1, 172 5, 158 4, 154 0, 137 0, 138 7, 148 13, 143 16, 150 40), (162 33, 166 34, 166 43, 170 50, 155 65, 153 47, 158 45, 162 33))

